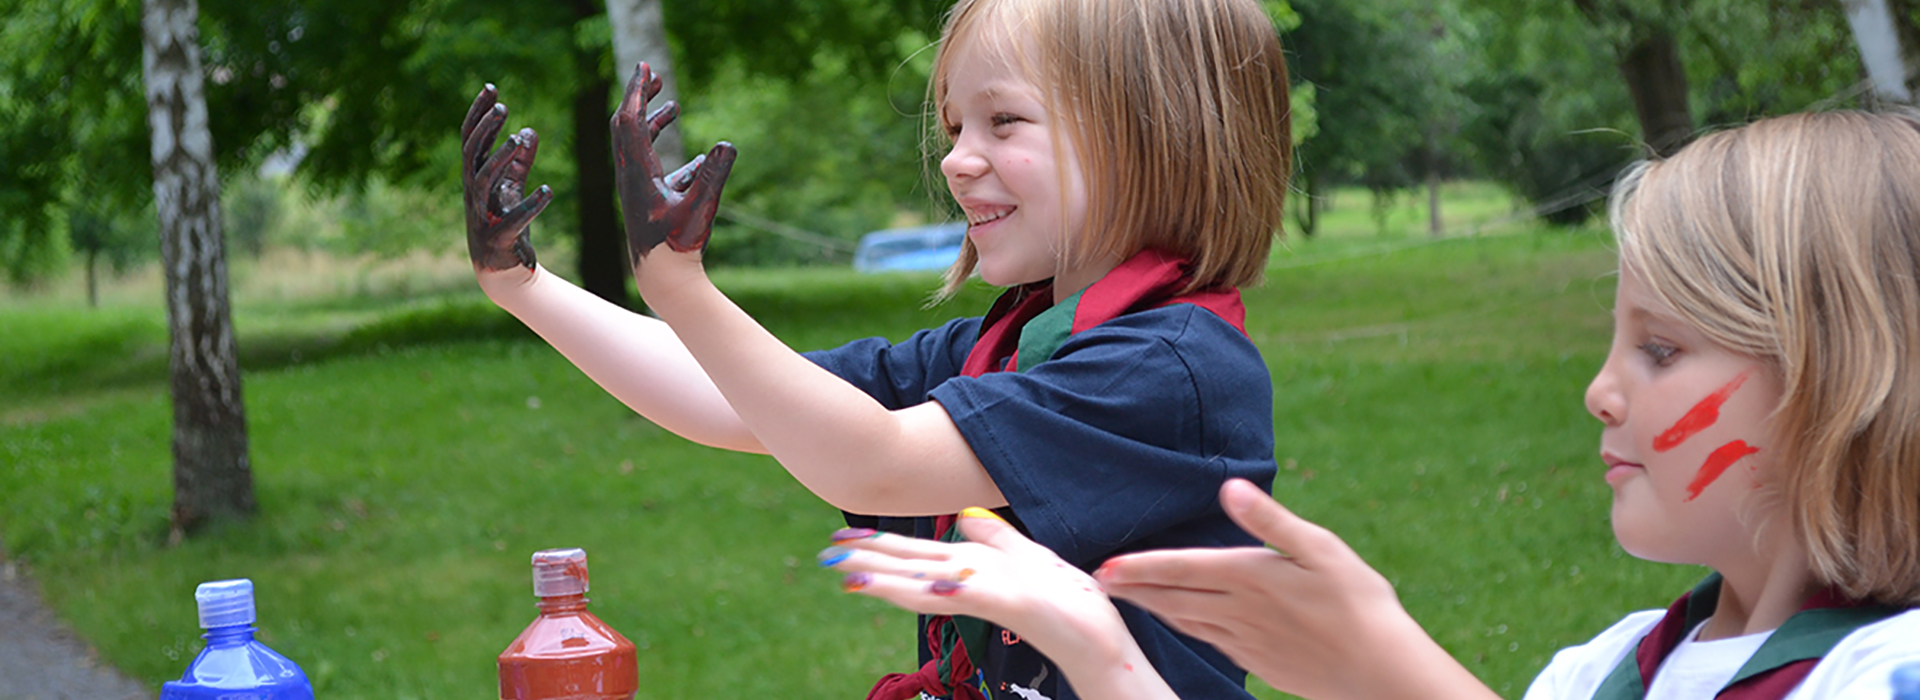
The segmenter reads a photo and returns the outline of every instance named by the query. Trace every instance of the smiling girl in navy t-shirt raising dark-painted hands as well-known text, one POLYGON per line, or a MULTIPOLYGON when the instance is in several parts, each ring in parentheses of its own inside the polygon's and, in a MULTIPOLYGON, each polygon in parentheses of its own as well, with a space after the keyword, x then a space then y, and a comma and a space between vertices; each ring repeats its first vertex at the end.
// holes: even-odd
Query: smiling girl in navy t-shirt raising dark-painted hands
MULTIPOLYGON (((1258 545, 1213 485, 1275 474, 1271 380, 1238 293, 1265 268, 1290 165, 1284 58, 1260 2, 958 2, 929 86, 970 224, 945 292, 975 270, 1006 292, 899 343, 799 355, 708 282, 733 150, 664 173, 651 138, 676 107, 647 113, 655 94, 641 65, 612 132, 659 320, 540 268, 526 222, 551 194, 524 194, 538 138, 486 153, 505 123, 492 88, 463 130, 480 286, 628 407, 770 453, 866 531, 956 539, 956 514, 989 506, 1081 577, 1123 552, 1258 545)), ((1215 648, 1114 614, 1137 667, 1188 696, 1246 698, 1215 648)), ((929 616, 916 633, 920 669, 870 698, 1104 696, 987 621, 929 616)))

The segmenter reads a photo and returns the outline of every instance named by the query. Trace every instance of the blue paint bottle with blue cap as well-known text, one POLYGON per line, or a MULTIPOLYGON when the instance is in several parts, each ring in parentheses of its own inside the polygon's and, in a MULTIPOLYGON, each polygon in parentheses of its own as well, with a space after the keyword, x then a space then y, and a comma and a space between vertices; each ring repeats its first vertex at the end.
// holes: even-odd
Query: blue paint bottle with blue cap
POLYGON ((179 681, 159 688, 159 700, 313 700, 307 673, 253 641, 253 581, 209 581, 194 589, 207 648, 194 656, 179 681))

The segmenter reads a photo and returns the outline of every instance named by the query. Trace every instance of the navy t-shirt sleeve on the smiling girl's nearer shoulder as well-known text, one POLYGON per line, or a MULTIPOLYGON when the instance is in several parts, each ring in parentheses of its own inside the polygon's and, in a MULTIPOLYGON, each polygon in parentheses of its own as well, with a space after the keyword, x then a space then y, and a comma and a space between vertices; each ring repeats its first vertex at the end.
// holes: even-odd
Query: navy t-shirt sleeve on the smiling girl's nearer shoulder
POLYGON ((1210 311, 1125 315, 1025 372, 931 393, 1029 535, 1068 562, 1254 543, 1217 493, 1235 476, 1273 487, 1273 384, 1260 351, 1210 311))

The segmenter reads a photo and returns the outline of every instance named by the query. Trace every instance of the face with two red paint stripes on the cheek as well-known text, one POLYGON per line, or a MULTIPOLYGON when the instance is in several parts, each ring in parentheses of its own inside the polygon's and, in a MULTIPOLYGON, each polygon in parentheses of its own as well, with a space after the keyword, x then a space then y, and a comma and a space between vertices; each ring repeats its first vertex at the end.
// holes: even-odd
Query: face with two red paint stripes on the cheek
POLYGON ((1632 270, 1620 270, 1613 347, 1586 389, 1605 424, 1613 535, 1653 562, 1722 572, 1755 556, 1753 527, 1772 458, 1768 416, 1780 380, 1682 322, 1632 270))

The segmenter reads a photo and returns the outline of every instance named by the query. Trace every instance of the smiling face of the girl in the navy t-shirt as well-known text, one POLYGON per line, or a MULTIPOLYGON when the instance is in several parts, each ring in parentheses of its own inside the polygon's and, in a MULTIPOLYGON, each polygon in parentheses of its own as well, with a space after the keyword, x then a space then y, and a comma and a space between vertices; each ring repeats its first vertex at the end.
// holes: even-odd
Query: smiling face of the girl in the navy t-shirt
POLYGON ((981 278, 1016 286, 1058 276, 1056 288, 1079 292, 1098 274, 1079 280, 1081 270, 1062 267, 1068 236, 1087 224, 1073 138, 1010 50, 996 48, 977 35, 964 40, 941 77, 939 115, 952 138, 941 173, 966 211, 981 278))

